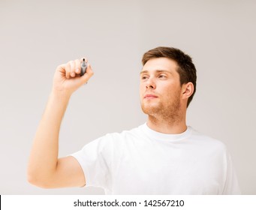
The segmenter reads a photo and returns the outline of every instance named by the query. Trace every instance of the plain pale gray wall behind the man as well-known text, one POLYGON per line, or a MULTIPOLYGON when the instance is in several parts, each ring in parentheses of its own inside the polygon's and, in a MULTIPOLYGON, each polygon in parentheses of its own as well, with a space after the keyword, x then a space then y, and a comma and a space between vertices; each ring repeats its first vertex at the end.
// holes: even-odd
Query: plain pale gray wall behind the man
POLYGON ((194 58, 188 124, 223 141, 244 194, 256 194, 256 1, 0 0, 0 193, 45 190, 26 181, 32 139, 57 65, 86 55, 95 71, 71 98, 60 133, 65 156, 105 133, 137 127, 143 52, 174 46, 194 58))

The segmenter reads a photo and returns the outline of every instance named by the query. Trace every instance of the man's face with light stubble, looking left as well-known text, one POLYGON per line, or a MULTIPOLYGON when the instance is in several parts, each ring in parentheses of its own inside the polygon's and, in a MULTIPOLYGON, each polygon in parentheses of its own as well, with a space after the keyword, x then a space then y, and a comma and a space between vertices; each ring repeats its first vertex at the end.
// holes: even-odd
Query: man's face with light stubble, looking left
POLYGON ((152 58, 140 72, 140 104, 144 113, 166 118, 179 115, 181 86, 178 65, 169 58, 152 58))

